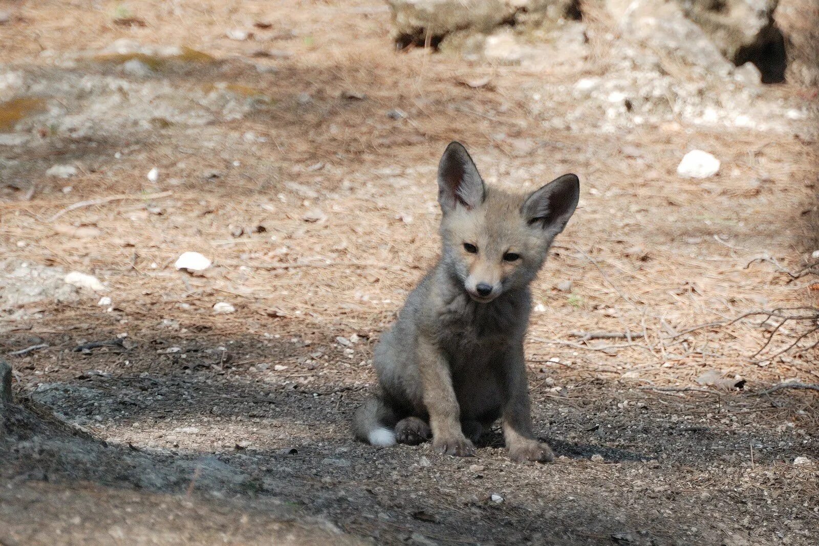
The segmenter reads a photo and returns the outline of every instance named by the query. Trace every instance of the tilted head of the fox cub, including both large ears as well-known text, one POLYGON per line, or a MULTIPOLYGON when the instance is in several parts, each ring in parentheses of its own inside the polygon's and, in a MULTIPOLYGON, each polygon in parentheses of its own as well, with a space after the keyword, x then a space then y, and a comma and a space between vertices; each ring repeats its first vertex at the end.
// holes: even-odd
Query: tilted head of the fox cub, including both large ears
POLYGON ((528 195, 483 183, 466 148, 451 142, 438 165, 444 260, 481 303, 525 287, 577 207, 580 181, 563 174, 528 195))

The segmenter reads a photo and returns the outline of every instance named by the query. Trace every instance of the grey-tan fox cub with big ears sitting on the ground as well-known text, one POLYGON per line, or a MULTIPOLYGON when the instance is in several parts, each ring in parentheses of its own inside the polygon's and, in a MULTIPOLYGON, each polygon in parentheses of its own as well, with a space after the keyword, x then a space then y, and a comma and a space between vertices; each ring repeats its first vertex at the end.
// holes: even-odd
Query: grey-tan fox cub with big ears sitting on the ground
POLYGON ((470 456, 499 417, 514 461, 551 461, 532 432, 523 336, 535 278, 577 206, 563 174, 527 196, 483 183, 459 142, 438 165, 441 259, 375 347, 380 389, 355 414, 373 445, 419 444, 470 456))

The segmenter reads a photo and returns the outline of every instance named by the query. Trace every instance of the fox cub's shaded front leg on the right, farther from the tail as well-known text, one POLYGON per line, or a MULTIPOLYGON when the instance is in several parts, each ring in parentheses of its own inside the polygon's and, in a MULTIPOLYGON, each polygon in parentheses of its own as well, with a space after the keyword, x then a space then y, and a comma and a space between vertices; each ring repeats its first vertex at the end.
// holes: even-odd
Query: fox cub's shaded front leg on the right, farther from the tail
POLYGON ((503 427, 509 458, 513 461, 549 463, 554 453, 547 444, 538 441, 532 432, 532 410, 529 406, 529 387, 523 344, 509 352, 504 367, 503 427))

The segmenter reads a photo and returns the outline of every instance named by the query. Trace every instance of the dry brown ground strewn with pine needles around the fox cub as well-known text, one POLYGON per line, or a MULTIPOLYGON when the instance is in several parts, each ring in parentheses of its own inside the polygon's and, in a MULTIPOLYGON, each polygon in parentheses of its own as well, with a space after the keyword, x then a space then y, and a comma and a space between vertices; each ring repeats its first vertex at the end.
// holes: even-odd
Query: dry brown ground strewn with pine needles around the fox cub
POLYGON ((9 6, 3 61, 45 82, 119 74, 111 59, 54 65, 48 52, 129 38, 213 57, 159 66, 175 89, 232 86, 256 102, 196 127, 43 127, 0 147, 3 275, 23 263, 92 273, 112 300, 40 300, 0 319, 2 353, 48 345, 4 357, 27 401, 4 416, 0 544, 819 542, 817 393, 761 394, 819 382, 815 351, 800 350, 816 336, 777 355, 811 323, 779 327, 759 354, 781 319, 725 324, 817 303, 815 280, 781 270, 815 250, 808 122, 548 129, 575 107, 554 85, 606 74, 616 49, 598 43, 586 61, 539 72, 395 53, 374 1, 9 6), (255 37, 225 37, 234 28, 255 37), (527 345, 554 464, 509 463, 497 433, 473 459, 351 439, 378 332, 437 255, 434 172, 450 139, 490 183, 581 178, 581 206, 536 282, 527 345), (676 176, 693 147, 722 160, 716 178, 676 176), (79 172, 46 176, 57 164, 79 172), (214 267, 174 271, 185 250, 214 267), (214 314, 219 301, 236 312, 214 314), (635 338, 577 335, 598 331, 635 338), (712 370, 744 389, 696 381, 712 370))

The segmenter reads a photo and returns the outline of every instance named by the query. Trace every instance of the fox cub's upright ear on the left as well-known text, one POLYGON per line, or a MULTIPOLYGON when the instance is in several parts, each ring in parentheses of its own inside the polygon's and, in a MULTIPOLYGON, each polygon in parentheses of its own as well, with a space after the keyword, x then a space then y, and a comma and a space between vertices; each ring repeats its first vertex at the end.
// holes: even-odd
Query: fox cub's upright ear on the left
POLYGON ((438 203, 445 213, 463 205, 467 210, 483 202, 485 188, 472 158, 460 142, 450 142, 438 164, 438 203))

